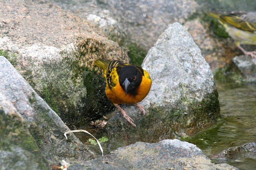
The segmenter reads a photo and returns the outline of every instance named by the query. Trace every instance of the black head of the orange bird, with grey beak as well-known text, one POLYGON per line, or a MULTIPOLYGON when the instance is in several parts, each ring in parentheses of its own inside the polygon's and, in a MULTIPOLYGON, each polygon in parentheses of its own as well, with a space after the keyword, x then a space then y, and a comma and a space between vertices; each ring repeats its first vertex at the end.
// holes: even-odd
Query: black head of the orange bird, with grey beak
POLYGON ((133 65, 121 68, 119 73, 119 84, 127 94, 136 95, 136 89, 142 81, 142 73, 133 65))

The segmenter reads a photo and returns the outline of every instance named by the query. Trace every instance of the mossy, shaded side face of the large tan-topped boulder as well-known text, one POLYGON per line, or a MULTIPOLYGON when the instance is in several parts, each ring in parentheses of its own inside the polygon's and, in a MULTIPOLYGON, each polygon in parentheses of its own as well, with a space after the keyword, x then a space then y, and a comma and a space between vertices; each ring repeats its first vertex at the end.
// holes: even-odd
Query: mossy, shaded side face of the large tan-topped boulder
POLYGON ((98 58, 117 58, 127 62, 128 57, 121 48, 95 35, 78 37, 73 51, 68 48, 60 53, 62 58, 57 58, 54 63, 44 64, 43 61, 26 58, 27 63, 24 63, 29 67, 24 68, 19 64, 19 55, 0 51, 69 128, 99 119, 112 110, 114 106, 105 95, 105 80, 93 63, 98 58))

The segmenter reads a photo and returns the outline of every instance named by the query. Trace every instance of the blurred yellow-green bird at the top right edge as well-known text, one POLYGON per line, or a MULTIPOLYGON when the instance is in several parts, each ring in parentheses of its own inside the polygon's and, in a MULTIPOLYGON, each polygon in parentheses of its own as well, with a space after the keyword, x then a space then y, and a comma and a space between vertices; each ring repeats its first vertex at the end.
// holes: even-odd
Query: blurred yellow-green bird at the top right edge
POLYGON ((256 58, 256 51, 246 51, 240 46, 240 44, 256 45, 256 12, 209 12, 208 15, 216 18, 224 26, 228 35, 234 39, 237 48, 245 55, 256 58))

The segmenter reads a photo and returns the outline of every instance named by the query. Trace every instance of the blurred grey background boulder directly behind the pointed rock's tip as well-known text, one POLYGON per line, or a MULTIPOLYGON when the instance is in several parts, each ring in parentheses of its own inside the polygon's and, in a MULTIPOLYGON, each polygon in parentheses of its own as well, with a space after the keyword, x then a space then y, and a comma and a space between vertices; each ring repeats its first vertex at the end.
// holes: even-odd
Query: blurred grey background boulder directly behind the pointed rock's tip
POLYGON ((194 0, 51 0, 100 26, 110 38, 150 49, 173 22, 184 23, 199 5, 194 0), (119 38, 122 38, 119 40, 119 38))

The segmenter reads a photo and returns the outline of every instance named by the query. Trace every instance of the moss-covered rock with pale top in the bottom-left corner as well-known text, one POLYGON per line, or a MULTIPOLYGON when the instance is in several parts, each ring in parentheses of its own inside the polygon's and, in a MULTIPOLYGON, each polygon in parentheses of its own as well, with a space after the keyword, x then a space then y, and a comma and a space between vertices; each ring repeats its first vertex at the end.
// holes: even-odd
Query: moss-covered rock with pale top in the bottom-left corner
POLYGON ((26 121, 0 92, 1 170, 49 169, 46 159, 29 132, 26 121))

